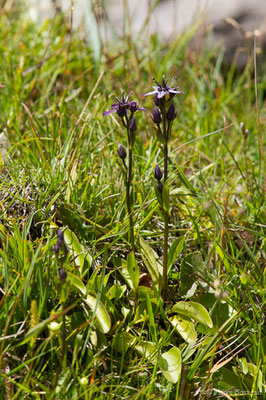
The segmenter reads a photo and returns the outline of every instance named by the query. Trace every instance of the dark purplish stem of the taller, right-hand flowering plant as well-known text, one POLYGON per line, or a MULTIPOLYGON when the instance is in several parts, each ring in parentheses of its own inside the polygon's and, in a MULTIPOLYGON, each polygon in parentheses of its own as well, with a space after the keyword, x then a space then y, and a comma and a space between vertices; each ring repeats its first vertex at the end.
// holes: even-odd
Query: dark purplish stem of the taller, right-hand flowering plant
MULTIPOLYGON (((164 183, 168 179, 168 147, 167 142, 164 144, 164 183)), ((164 243, 163 243, 163 284, 162 296, 166 300, 167 297, 167 269, 168 269, 168 233, 169 233, 169 214, 164 210, 164 243)))

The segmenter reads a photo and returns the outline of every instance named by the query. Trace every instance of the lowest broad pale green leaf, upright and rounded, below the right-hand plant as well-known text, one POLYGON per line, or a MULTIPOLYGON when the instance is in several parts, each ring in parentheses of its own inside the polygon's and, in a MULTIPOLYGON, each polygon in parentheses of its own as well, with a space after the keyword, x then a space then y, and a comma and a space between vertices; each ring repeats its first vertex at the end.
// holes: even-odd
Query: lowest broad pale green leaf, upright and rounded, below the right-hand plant
POLYGON ((159 357, 162 373, 169 382, 176 383, 181 375, 181 353, 177 347, 172 347, 159 357))

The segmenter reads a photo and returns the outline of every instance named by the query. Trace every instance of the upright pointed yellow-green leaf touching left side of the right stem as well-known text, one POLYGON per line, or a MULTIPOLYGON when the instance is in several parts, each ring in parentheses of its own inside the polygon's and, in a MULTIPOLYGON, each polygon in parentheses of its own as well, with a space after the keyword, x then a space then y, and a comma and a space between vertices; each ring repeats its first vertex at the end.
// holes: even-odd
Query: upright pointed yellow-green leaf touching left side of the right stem
POLYGON ((143 262, 147 270, 149 271, 149 274, 156 289, 160 292, 161 280, 163 275, 162 262, 158 254, 155 253, 155 251, 145 242, 145 240, 141 236, 139 236, 139 245, 143 262))

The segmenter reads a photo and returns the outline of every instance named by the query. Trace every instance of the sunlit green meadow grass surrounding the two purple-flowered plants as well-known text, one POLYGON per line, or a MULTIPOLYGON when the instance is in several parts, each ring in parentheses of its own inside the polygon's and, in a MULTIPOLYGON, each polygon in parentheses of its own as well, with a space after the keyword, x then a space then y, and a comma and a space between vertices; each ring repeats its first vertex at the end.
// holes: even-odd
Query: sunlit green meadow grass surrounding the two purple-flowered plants
POLYGON ((61 17, 37 27, 1 14, 1 399, 265 396, 266 64, 257 60, 256 76, 252 58, 224 71, 218 49, 188 49, 193 29, 167 45, 128 36, 95 60, 95 42, 69 34, 61 17), (102 112, 121 89, 147 109, 137 115, 133 204, 137 264, 150 279, 163 252, 154 190, 163 153, 143 93, 163 74, 184 91, 169 151, 169 299, 152 276, 135 310, 117 157, 126 138, 102 112), (67 255, 53 251, 58 227, 67 255), (213 326, 202 310, 175 313, 184 300, 213 326))

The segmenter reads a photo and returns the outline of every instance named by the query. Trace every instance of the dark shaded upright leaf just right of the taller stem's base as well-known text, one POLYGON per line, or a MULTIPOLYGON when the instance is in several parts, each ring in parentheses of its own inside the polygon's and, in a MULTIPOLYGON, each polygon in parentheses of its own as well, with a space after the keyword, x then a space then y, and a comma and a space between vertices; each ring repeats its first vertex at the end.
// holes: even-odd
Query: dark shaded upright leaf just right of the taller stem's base
POLYGON ((185 296, 196 281, 195 273, 204 270, 202 255, 199 251, 187 254, 180 266, 179 295, 185 296))

